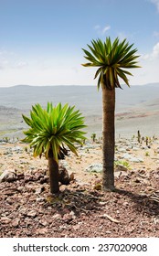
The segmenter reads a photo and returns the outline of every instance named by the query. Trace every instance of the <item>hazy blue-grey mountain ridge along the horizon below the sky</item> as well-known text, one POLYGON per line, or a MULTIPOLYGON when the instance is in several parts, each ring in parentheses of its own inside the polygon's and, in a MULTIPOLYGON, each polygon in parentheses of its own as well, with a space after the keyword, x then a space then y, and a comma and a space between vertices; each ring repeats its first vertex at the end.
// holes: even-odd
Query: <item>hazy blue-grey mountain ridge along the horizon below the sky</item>
MULTIPOLYGON (((116 90, 116 111, 127 111, 138 104, 159 101, 159 83, 142 86, 122 86, 123 90, 116 90)), ((18 109, 30 109, 31 105, 39 102, 46 105, 48 101, 55 104, 61 101, 76 105, 81 111, 89 112, 101 110, 101 90, 96 86, 28 86, 17 85, 0 88, 0 106, 18 109)))

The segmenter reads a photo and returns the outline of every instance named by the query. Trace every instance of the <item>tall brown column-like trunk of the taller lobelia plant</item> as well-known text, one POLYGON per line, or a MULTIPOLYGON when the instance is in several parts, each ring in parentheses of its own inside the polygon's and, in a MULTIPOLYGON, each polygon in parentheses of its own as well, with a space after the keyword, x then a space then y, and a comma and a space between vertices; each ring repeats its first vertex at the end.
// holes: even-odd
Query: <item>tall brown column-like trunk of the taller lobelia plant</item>
POLYGON ((115 146, 115 89, 102 88, 102 187, 114 190, 114 146, 115 146))

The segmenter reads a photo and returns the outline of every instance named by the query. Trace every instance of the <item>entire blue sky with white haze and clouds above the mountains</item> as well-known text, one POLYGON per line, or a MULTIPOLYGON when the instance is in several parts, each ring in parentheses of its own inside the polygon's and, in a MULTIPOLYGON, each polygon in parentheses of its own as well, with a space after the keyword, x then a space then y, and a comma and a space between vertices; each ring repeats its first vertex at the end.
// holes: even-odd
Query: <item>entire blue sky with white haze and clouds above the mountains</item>
POLYGON ((0 86, 96 85, 81 48, 106 37, 138 48, 131 85, 159 82, 159 0, 0 0, 0 86))

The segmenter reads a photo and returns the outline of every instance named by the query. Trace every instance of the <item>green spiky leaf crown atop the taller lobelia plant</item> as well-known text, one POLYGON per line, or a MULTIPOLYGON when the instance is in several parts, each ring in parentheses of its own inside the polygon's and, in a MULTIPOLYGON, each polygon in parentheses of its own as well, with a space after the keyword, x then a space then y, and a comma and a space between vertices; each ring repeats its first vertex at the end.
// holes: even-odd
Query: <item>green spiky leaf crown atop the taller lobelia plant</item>
POLYGON ((129 80, 127 75, 131 75, 126 69, 140 68, 136 65, 140 56, 135 55, 137 49, 132 49, 132 45, 126 42, 126 39, 120 42, 119 37, 116 37, 113 43, 111 38, 106 37, 105 42, 101 39, 92 40, 89 50, 82 48, 85 53, 85 59, 89 62, 82 64, 84 67, 98 67, 94 79, 99 77, 98 89, 101 86, 106 86, 112 90, 121 88, 119 78, 121 78, 128 86, 129 80))

